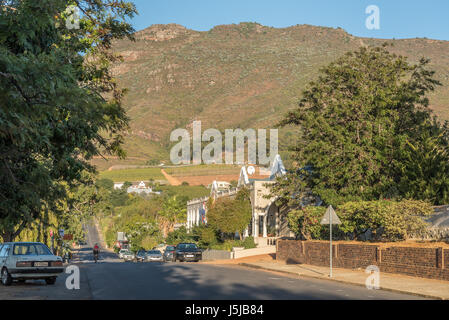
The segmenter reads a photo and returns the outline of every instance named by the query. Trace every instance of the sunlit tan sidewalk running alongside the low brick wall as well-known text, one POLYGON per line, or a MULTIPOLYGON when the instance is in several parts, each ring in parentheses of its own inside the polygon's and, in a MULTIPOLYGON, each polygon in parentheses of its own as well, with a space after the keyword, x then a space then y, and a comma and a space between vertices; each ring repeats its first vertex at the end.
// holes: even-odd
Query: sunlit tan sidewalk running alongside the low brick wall
MULTIPOLYGON (((241 261, 236 264, 249 268, 262 269, 266 271, 281 272, 285 274, 325 279, 347 284, 353 284, 365 287, 365 281, 369 274, 364 270, 350 270, 333 268, 333 277, 329 278, 329 267, 312 266, 305 264, 285 264, 281 261, 268 259, 260 256, 260 259, 251 261, 241 261)), ((449 282, 432 279, 416 278, 392 273, 380 273, 380 289, 407 293, 431 299, 449 300, 449 282)))

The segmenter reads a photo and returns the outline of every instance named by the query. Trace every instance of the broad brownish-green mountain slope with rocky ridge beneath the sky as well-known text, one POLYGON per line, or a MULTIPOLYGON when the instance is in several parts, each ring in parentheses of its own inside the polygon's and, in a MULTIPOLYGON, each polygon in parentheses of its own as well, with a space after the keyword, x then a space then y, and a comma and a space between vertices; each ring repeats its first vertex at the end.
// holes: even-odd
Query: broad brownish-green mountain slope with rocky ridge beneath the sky
MULTIPOLYGON (((449 120, 449 41, 359 38, 341 28, 257 23, 220 25, 205 32, 153 25, 135 36, 136 42, 114 44, 124 58, 114 66, 114 75, 129 89, 124 105, 131 118, 125 144, 130 159, 108 164, 96 160, 100 168, 168 160, 171 131, 190 128, 193 120, 201 120, 203 130, 270 128, 295 107, 321 67, 347 51, 384 42, 410 62, 431 59, 443 83, 430 97, 431 108, 449 120)), ((289 134, 283 129, 281 141, 289 134)))

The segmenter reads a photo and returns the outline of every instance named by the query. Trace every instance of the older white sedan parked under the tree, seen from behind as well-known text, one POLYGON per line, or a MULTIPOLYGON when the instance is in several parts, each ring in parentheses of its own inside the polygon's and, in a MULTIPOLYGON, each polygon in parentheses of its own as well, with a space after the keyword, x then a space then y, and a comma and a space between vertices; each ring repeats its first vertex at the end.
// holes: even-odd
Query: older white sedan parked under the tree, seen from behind
POLYGON ((16 281, 43 279, 49 285, 64 272, 61 257, 40 242, 7 242, 0 245, 1 281, 5 286, 16 281))

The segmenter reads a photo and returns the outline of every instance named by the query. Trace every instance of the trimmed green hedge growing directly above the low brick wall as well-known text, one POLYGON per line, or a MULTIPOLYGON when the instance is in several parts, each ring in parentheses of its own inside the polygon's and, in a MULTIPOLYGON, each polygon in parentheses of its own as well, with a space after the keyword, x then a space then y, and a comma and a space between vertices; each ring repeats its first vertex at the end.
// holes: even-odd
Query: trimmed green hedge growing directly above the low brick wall
MULTIPOLYGON (((290 229, 304 240, 329 239, 328 226, 320 224, 325 211, 325 207, 290 211, 290 229)), ((429 202, 421 200, 351 201, 340 205, 336 213, 342 222, 334 229, 336 239, 358 239, 370 230, 374 240, 401 241, 422 234, 426 228, 423 218, 433 209, 429 202)))

